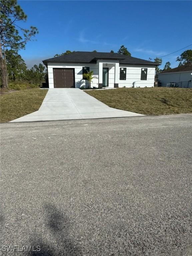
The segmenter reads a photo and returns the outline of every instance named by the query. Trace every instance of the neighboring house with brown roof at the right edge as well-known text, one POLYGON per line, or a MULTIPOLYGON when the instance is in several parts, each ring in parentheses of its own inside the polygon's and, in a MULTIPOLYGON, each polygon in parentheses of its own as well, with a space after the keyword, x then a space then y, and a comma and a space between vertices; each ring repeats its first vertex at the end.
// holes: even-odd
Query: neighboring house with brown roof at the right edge
POLYGON ((174 84, 180 88, 192 88, 192 64, 165 70, 158 74, 161 86, 170 87, 174 84))

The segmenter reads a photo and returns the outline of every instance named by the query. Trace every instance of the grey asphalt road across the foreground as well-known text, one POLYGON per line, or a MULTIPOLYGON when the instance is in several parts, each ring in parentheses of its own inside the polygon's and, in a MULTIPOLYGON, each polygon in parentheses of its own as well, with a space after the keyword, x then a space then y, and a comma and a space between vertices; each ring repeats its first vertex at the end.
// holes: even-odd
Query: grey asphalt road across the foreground
POLYGON ((1 124, 1 255, 192 255, 192 115, 1 124))

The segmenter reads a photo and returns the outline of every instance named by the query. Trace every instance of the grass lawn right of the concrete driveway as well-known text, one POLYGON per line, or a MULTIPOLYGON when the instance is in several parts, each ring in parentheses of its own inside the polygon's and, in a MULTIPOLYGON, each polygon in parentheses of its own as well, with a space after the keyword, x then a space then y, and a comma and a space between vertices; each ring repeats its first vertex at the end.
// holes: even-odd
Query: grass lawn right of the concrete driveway
POLYGON ((112 108, 144 115, 192 113, 192 89, 118 88, 86 93, 112 108))

